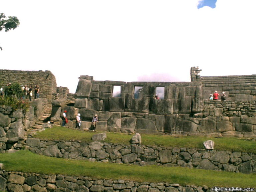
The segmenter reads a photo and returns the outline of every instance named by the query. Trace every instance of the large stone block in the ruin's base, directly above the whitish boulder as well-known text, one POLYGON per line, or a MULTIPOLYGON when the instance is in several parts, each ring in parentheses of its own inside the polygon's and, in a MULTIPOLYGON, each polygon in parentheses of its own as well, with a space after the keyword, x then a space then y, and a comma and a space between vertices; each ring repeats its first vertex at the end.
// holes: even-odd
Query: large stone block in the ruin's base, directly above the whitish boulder
POLYGON ((198 126, 198 130, 200 133, 214 133, 217 131, 216 129, 216 118, 208 116, 206 118, 203 118, 200 121, 200 124, 198 126))

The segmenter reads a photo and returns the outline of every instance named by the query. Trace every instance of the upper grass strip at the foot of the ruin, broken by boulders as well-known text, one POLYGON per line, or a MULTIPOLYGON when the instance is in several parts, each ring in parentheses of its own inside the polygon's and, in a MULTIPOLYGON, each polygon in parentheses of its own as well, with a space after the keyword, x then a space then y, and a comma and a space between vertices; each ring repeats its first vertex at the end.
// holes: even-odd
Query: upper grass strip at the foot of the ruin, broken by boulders
MULTIPOLYGON (((49 140, 80 140, 92 142, 91 137, 95 132, 73 130, 55 126, 38 133, 35 137, 49 140)), ((129 144, 133 135, 120 133, 107 133, 105 142, 129 144)), ((141 135, 142 144, 171 147, 204 148, 203 142, 213 140, 214 149, 236 152, 256 153, 256 142, 239 138, 210 138, 210 137, 172 137, 170 135, 141 135)))

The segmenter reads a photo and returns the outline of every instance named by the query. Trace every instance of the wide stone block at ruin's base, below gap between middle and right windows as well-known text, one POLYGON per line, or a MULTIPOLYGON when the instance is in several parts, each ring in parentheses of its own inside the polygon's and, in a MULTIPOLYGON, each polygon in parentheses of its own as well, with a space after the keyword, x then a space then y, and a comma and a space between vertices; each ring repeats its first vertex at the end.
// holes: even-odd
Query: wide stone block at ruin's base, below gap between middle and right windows
POLYGON ((157 133, 156 125, 153 121, 149 119, 138 118, 135 126, 136 133, 157 133))

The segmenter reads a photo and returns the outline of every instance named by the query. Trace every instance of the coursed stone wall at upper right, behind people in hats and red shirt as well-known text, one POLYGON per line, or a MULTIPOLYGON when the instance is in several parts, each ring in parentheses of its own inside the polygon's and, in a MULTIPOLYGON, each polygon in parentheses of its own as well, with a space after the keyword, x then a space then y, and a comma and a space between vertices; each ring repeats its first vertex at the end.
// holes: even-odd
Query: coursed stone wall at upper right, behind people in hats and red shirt
POLYGON ((204 76, 202 77, 203 99, 218 91, 226 92, 227 100, 251 101, 256 99, 256 75, 204 76))

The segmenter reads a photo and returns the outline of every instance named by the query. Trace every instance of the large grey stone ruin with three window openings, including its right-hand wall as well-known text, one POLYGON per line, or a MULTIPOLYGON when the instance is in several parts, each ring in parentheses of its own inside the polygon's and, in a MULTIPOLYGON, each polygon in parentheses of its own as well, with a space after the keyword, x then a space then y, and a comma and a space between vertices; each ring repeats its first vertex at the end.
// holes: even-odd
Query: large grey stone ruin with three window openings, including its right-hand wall
POLYGON ((256 75, 201 77, 200 71, 191 68, 191 82, 95 81, 81 75, 74 103, 54 100, 51 120, 61 124, 67 110, 73 128, 80 113, 81 129, 90 129, 97 114, 98 131, 255 137, 256 75), (215 90, 225 91, 227 101, 209 101, 215 90))

